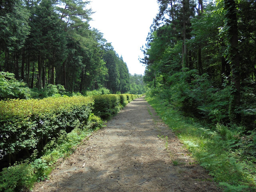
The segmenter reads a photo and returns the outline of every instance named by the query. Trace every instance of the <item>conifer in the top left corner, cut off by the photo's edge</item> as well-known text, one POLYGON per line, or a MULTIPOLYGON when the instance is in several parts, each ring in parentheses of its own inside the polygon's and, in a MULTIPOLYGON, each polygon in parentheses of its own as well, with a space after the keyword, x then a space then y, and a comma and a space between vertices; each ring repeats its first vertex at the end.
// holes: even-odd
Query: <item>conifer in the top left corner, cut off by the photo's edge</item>
POLYGON ((10 67, 12 67, 10 54, 14 54, 16 78, 19 77, 18 50, 24 46, 24 41, 29 34, 29 15, 30 13, 20 0, 3 0, 0 2, 0 54, 2 51, 5 52, 5 71, 10 71, 10 67))

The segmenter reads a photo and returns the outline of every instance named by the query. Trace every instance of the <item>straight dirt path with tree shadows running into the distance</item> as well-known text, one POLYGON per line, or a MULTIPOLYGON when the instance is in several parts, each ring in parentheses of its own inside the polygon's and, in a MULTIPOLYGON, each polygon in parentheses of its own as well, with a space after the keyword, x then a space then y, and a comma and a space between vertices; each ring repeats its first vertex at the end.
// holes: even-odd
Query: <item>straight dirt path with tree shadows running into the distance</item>
POLYGON ((36 184, 33 191, 219 190, 207 172, 194 163, 154 109, 144 98, 138 98, 52 171, 50 180, 36 184))

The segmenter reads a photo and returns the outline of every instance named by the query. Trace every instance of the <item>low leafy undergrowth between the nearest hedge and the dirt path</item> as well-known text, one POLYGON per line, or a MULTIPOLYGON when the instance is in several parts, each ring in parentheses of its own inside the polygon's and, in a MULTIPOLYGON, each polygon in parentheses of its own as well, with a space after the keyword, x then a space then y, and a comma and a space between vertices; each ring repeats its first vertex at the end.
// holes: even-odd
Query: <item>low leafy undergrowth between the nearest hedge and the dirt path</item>
POLYGON ((77 127, 70 133, 63 130, 57 140, 49 142, 40 158, 36 158, 38 151, 35 150, 30 159, 4 168, 0 173, 0 191, 26 191, 32 189, 34 182, 48 179, 57 160, 70 156, 82 140, 102 125, 102 120, 91 114, 86 126, 77 127))

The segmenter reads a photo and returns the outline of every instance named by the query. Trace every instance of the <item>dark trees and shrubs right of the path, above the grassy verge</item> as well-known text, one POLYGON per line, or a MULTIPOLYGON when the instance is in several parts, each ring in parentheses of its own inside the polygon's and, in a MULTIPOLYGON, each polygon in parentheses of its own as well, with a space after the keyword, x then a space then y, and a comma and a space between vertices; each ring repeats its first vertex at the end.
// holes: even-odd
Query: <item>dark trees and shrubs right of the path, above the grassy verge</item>
POLYGON ((159 0, 144 82, 186 114, 255 129, 256 3, 159 0))

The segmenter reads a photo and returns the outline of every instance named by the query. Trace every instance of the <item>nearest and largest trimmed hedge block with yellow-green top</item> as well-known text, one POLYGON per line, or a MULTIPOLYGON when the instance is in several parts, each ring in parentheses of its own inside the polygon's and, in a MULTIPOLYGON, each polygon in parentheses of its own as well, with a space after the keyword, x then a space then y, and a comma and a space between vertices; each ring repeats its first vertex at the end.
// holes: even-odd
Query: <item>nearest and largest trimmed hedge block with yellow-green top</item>
POLYGON ((93 104, 83 96, 0 101, 0 156, 42 150, 60 130, 86 124, 93 104))

